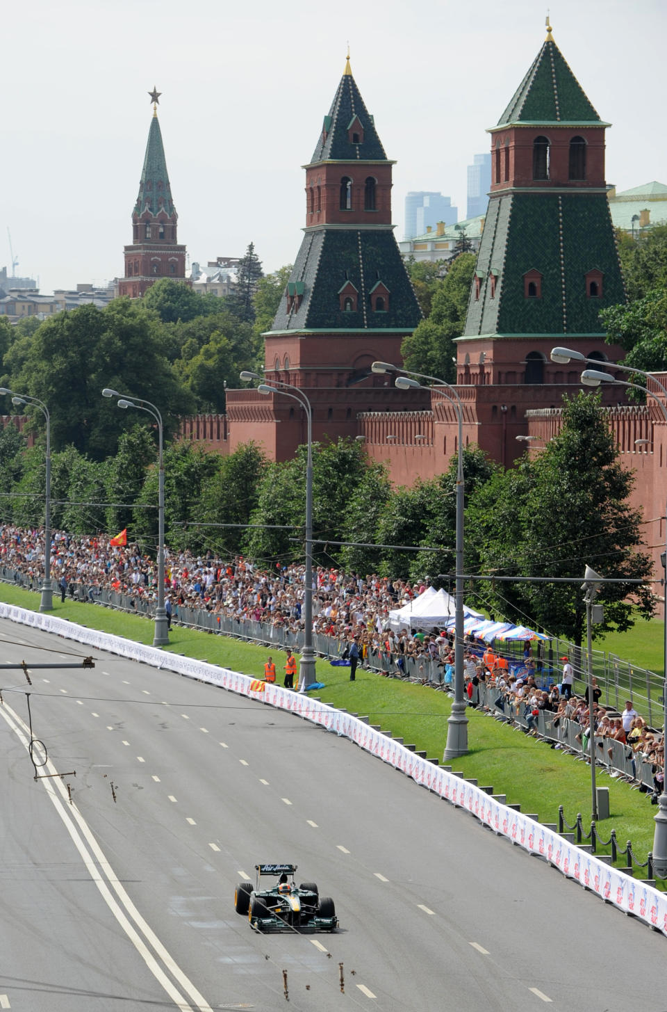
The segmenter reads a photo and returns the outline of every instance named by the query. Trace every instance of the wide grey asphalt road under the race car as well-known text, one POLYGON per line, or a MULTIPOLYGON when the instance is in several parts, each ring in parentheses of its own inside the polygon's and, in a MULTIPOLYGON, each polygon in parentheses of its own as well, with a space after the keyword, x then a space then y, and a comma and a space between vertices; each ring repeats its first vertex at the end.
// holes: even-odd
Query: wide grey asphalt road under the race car
MULTIPOLYGON (((0 621, 5 663, 87 653, 0 621)), ((471 816, 298 718, 94 658, 0 674, 0 1009, 667 1009, 667 939, 471 816), (76 776, 33 779, 26 691, 39 771, 76 776), (259 861, 340 929, 254 932, 259 861)))

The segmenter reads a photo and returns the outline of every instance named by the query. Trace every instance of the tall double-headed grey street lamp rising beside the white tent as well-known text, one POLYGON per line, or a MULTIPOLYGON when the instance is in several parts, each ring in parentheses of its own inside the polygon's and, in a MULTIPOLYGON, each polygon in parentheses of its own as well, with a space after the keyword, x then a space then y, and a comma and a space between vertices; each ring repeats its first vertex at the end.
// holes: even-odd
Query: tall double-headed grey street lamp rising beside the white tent
POLYGON ((428 390, 435 391, 442 397, 451 401, 459 419, 459 441, 458 441, 458 468, 456 478, 456 610, 454 628, 456 632, 456 646, 454 652, 454 702, 452 712, 447 722, 447 745, 445 747, 444 758, 456 759, 457 756, 466 755, 468 752, 468 718, 466 716, 467 703, 463 686, 463 644, 464 644, 464 613, 463 613, 463 523, 465 509, 465 485, 463 476, 463 405, 461 399, 451 384, 436 376, 425 375, 422 372, 413 372, 410 369, 399 368, 390 362, 373 362, 371 366, 373 372, 400 372, 407 373, 396 376, 396 387, 399 390, 428 390), (409 378, 417 376, 419 380, 428 380, 436 384, 435 387, 423 387, 416 380, 409 378))

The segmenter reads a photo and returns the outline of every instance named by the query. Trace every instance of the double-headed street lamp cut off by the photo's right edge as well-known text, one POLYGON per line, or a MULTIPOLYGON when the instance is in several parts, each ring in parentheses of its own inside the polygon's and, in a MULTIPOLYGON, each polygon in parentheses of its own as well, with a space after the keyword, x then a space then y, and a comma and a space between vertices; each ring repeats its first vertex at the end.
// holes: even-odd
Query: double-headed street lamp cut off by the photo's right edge
MULTIPOLYGON (((552 361, 565 364, 570 360, 577 362, 586 362, 592 365, 600 364, 599 359, 596 358, 586 358, 581 354, 580 351, 572 351, 570 348, 554 348, 551 353, 552 361)), ((633 375, 644 376, 646 380, 652 380, 657 387, 660 388, 667 401, 667 389, 658 380, 656 375, 652 372, 645 372, 643 369, 637 369, 632 365, 625 365, 621 362, 605 362, 610 368, 621 369, 624 372, 631 372, 633 375)), ((663 418, 665 420, 665 426, 667 428, 667 406, 663 401, 648 387, 641 387, 636 383, 627 383, 625 380, 617 380, 608 372, 602 372, 599 369, 584 369, 581 373, 581 382, 587 387, 599 387, 601 384, 610 383, 616 387, 632 387, 634 390, 640 390, 642 393, 647 394, 652 397, 660 408, 663 418)), ((663 591, 665 598, 665 637, 664 637, 664 654, 663 661, 665 666, 664 682, 663 682, 663 707, 664 707, 664 722, 663 722, 663 746, 667 741, 667 505, 665 507, 665 580, 663 583, 663 591)), ((654 822, 656 824, 654 838, 653 838, 653 866, 656 873, 660 877, 665 877, 667 875, 667 791, 665 780, 665 765, 663 760, 663 785, 660 797, 658 798, 659 810, 655 816, 654 822)))

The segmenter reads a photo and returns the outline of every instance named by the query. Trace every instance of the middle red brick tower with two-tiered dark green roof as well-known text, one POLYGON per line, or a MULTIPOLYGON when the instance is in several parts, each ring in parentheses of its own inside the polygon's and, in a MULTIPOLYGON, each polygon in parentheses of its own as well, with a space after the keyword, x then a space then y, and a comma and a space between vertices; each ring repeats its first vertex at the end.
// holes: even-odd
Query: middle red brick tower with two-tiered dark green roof
MULTIPOLYGON (((399 364, 421 318, 391 224, 391 167, 350 61, 306 172, 306 221, 273 328, 265 374, 301 388, 313 438, 354 436, 357 415, 395 406, 376 359, 399 364)), ((254 439, 285 459, 305 441, 303 412, 283 395, 228 391, 232 447, 254 439)), ((413 406, 421 406, 417 395, 413 406)))

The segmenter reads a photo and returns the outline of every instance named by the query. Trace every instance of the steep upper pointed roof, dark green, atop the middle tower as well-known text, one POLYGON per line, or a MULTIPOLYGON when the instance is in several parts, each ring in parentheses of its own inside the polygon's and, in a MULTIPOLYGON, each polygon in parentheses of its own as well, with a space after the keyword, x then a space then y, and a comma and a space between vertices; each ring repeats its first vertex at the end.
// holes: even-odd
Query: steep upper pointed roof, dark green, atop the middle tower
POLYGON ((361 92, 352 74, 344 74, 336 96, 324 116, 322 132, 313 152, 312 162, 335 161, 386 161, 387 156, 375 130, 373 116, 368 112, 361 92), (363 144, 353 144, 348 136, 349 124, 355 116, 364 130, 363 144))

